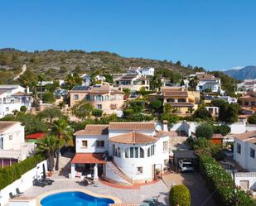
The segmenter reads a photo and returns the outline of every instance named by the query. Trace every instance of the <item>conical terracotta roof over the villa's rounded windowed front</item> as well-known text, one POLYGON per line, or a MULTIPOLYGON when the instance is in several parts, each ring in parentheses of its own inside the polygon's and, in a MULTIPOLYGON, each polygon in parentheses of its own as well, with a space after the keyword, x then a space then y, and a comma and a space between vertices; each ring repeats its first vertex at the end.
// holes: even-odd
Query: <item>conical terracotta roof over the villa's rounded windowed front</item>
POLYGON ((110 138, 110 141, 123 144, 143 144, 156 142, 157 138, 133 131, 112 137, 110 138))

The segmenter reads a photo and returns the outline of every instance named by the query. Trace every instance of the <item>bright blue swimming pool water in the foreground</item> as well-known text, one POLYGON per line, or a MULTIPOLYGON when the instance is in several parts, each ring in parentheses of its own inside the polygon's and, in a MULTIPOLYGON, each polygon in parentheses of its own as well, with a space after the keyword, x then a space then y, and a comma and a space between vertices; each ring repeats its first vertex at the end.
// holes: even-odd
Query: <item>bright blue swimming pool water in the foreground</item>
POLYGON ((51 194, 41 199, 42 206, 107 206, 113 199, 96 198, 82 192, 51 194))

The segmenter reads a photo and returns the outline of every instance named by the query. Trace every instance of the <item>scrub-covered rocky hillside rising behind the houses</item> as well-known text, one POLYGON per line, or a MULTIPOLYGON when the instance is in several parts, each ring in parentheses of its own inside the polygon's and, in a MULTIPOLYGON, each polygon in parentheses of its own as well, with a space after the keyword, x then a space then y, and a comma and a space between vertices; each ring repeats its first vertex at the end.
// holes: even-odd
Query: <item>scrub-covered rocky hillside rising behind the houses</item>
POLYGON ((14 76, 27 64, 36 74, 44 73, 49 79, 62 79, 70 71, 80 74, 99 70, 101 73, 118 73, 130 66, 152 66, 155 69, 171 69, 178 74, 191 74, 191 67, 172 63, 167 60, 149 60, 142 58, 125 58, 107 51, 85 52, 84 50, 45 50, 20 51, 14 49, 0 50, 0 83, 12 83, 14 76))

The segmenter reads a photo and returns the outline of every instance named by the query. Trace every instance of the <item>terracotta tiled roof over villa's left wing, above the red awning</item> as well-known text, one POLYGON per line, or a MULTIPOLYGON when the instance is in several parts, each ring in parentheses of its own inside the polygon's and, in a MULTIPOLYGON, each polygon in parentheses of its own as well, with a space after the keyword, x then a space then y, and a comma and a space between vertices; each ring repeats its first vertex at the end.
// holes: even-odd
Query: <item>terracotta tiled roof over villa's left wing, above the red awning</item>
POLYGON ((108 135, 109 125, 104 124, 89 124, 84 130, 74 133, 74 135, 108 135))

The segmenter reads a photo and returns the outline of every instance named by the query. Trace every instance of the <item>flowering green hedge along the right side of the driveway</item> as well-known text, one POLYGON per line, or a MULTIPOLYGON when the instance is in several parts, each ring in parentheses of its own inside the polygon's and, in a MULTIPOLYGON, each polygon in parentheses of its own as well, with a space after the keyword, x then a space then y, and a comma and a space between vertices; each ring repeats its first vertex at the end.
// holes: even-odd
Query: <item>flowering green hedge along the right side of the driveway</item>
MULTIPOLYGON (((205 153, 199 154, 200 170, 205 179, 207 187, 211 192, 215 192, 214 197, 217 205, 232 206, 234 201, 234 182, 219 163, 205 153)), ((255 206, 255 201, 242 189, 237 189, 239 206, 255 206)))

